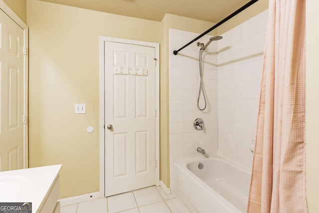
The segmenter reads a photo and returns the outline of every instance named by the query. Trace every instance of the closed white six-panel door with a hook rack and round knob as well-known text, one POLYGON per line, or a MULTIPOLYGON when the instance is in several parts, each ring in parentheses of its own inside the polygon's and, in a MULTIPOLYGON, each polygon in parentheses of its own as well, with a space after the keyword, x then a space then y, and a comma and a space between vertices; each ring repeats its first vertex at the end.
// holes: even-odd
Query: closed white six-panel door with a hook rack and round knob
POLYGON ((105 42, 105 195, 155 185, 155 48, 105 42))

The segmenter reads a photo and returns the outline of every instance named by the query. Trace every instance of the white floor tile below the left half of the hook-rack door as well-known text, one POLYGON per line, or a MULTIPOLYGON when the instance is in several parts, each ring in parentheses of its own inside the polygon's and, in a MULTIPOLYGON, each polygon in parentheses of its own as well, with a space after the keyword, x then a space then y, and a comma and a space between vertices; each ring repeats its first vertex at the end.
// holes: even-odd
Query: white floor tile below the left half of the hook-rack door
POLYGON ((118 213, 137 208, 133 193, 125 193, 107 198, 109 213, 118 213))

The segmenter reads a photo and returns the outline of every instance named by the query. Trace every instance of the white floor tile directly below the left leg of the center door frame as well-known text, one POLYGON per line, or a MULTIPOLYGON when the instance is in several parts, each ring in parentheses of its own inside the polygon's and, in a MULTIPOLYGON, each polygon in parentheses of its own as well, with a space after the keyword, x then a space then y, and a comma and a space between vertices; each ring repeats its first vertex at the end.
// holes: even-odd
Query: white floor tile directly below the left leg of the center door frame
POLYGON ((79 203, 77 213, 107 213, 107 200, 101 198, 93 201, 79 203))

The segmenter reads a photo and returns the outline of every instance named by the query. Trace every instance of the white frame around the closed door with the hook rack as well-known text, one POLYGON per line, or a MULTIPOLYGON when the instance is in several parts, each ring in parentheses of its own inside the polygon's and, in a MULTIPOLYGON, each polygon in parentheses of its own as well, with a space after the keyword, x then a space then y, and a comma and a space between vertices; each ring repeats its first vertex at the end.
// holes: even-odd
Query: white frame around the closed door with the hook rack
POLYGON ((105 197, 105 74, 104 43, 106 41, 136 44, 155 48, 155 185, 160 186, 160 44, 147 41, 100 36, 100 194, 105 197))

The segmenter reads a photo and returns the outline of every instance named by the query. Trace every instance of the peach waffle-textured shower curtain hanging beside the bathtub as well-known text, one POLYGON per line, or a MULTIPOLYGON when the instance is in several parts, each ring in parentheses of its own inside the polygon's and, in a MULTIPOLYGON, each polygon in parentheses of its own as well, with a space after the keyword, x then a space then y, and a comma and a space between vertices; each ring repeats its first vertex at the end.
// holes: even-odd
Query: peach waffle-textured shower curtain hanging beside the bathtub
POLYGON ((269 0, 249 213, 307 213, 306 0, 269 0))

